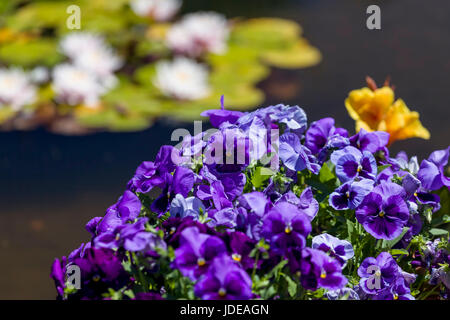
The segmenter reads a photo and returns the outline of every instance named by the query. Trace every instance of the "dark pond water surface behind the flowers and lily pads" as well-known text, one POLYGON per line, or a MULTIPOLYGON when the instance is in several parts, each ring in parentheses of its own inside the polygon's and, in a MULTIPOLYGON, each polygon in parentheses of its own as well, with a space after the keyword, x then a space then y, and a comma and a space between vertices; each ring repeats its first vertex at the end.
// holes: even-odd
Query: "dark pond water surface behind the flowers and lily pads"
MULTIPOLYGON (((301 105, 309 119, 331 116, 350 130, 347 93, 371 75, 387 75, 397 96, 421 114, 431 140, 394 144, 420 158, 449 144, 450 3, 448 0, 204 0, 185 10, 215 10, 228 17, 277 16, 299 21, 322 54, 320 65, 274 70, 262 84, 265 105, 301 105), (365 9, 378 3, 382 30, 365 27, 365 9)), ((89 240, 84 224, 123 191, 135 168, 152 160, 176 127, 162 121, 138 133, 66 137, 34 132, 0 133, 0 299, 52 299, 54 257, 89 240)))

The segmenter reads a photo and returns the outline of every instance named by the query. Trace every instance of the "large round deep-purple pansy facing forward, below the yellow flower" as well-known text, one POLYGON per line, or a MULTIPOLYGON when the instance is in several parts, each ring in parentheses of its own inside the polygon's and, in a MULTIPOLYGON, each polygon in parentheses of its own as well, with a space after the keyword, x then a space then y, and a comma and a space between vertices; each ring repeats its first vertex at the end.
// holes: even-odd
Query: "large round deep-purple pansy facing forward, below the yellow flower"
POLYGON ((356 210, 356 219, 375 238, 395 239, 409 219, 404 194, 404 189, 392 182, 376 186, 356 210))

